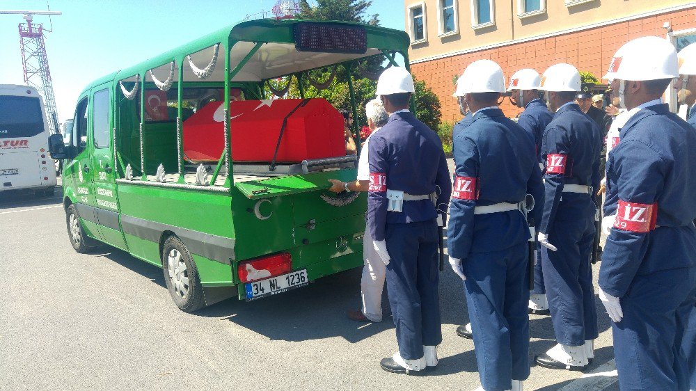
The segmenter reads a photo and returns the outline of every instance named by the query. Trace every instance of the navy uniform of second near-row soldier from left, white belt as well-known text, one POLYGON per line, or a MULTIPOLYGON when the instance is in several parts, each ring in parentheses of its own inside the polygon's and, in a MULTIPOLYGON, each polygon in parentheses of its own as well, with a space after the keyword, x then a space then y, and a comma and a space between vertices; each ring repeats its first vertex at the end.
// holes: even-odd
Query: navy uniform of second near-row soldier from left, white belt
MULTIPOLYGON (((517 204, 544 189, 534 140, 498 108, 484 109, 453 141, 457 166, 450 202, 450 257, 462 260, 476 360, 486 390, 509 390, 529 376, 525 273, 530 232, 519 210, 476 214, 476 208, 517 204)), ((532 210, 537 221, 540 208, 532 210)))

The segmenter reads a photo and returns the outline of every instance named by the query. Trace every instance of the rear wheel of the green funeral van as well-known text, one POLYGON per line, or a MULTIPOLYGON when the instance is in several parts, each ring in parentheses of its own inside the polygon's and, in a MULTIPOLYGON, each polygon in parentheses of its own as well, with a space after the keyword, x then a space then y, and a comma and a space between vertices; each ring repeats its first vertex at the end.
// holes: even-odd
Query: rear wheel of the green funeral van
POLYGON ((194 312, 205 307, 196 264, 189 250, 175 236, 164 241, 162 269, 169 294, 180 310, 194 312))

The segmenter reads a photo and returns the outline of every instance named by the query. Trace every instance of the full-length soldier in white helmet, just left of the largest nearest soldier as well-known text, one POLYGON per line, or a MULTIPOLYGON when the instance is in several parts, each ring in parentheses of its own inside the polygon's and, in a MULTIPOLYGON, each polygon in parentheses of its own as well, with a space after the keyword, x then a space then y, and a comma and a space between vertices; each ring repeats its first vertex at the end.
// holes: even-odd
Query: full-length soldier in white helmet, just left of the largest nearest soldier
POLYGON ((574 102, 580 90, 578 70, 556 64, 542 79, 546 104, 555 114, 541 147, 546 194, 537 240, 558 343, 535 360, 543 367, 582 370, 594 356, 598 335, 590 256, 601 138, 599 127, 574 102))

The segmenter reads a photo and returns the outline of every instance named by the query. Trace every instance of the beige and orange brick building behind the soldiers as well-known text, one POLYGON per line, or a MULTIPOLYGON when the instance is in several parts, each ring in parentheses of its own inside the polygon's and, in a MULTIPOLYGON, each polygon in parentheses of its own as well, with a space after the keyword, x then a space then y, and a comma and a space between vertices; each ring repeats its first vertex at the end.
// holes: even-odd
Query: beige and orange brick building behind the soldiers
MULTIPOLYGON (((440 98, 443 120, 459 120, 454 81, 489 58, 506 79, 570 63, 598 79, 628 40, 657 35, 678 48, 696 42, 696 2, 685 0, 405 0, 411 70, 440 98)), ((605 81, 606 82, 606 81, 605 81)), ((674 106, 676 97, 668 94, 674 106)), ((501 108, 519 113, 508 99, 501 108)))

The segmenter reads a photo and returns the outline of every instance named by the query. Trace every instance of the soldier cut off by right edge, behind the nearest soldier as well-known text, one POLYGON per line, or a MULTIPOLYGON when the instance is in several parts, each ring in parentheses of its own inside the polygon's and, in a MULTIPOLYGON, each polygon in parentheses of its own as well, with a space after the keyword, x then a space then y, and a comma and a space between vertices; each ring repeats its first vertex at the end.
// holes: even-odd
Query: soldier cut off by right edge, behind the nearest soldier
MULTIPOLYGON (((679 51, 679 64, 680 79, 674 83, 674 88, 678 90, 679 103, 686 104, 689 108, 687 122, 696 128, 696 43, 679 51)), ((691 312, 689 327, 686 329, 681 346, 684 348, 688 362, 690 389, 696 390, 696 310, 691 312)))

